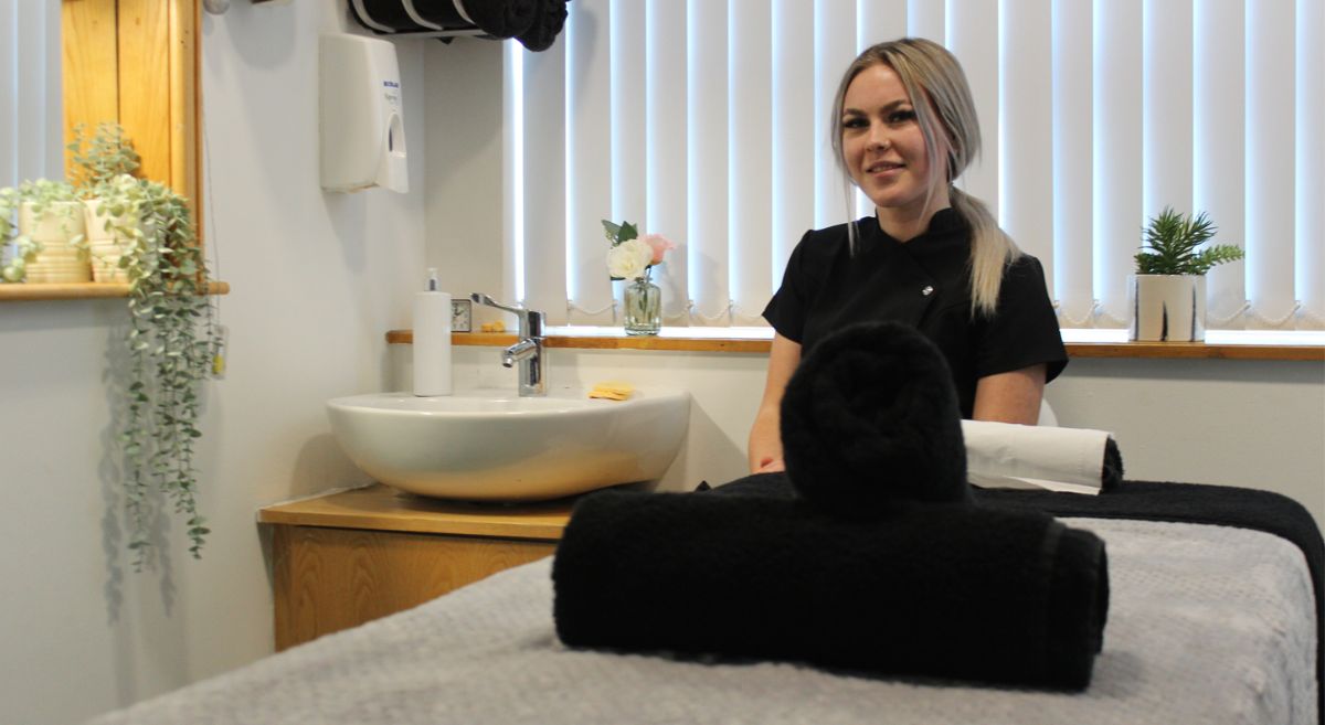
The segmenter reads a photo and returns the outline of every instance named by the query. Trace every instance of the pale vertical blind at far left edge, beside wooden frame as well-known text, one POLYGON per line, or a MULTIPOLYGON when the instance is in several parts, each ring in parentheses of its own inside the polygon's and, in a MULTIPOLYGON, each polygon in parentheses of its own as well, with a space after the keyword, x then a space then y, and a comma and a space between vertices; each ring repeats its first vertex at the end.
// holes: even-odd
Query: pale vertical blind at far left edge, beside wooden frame
POLYGON ((0 187, 64 176, 60 3, 0 0, 0 187))

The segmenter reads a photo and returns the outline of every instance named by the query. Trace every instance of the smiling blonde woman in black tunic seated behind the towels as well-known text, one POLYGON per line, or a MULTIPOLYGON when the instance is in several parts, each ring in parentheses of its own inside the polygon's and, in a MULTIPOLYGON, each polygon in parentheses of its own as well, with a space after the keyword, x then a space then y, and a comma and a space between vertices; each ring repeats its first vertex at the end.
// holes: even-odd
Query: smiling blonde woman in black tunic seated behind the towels
POLYGON ((1034 425, 1067 365, 1039 261, 953 181, 979 152, 966 74, 928 40, 861 53, 837 87, 833 151, 874 216, 810 232, 763 316, 775 335, 750 470, 780 471, 779 406, 803 355, 863 320, 914 325, 947 359, 962 417, 1034 425))

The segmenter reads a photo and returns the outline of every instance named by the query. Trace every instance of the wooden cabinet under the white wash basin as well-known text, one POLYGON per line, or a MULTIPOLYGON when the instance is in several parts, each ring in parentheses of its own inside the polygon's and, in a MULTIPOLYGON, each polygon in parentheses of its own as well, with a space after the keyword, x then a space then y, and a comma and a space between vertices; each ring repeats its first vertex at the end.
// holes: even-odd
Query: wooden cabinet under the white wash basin
POLYGON ((269 505, 276 648, 401 611, 551 556, 566 500, 468 504, 386 486, 269 505))

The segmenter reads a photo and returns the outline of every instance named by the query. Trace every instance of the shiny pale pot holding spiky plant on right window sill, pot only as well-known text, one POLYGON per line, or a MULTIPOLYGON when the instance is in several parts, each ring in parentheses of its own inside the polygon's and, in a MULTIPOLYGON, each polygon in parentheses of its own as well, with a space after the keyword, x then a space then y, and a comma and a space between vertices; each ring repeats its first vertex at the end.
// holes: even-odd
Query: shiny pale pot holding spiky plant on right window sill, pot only
POLYGON ((1137 274, 1128 278, 1132 328, 1141 341, 1198 343, 1206 339, 1206 277, 1137 274))

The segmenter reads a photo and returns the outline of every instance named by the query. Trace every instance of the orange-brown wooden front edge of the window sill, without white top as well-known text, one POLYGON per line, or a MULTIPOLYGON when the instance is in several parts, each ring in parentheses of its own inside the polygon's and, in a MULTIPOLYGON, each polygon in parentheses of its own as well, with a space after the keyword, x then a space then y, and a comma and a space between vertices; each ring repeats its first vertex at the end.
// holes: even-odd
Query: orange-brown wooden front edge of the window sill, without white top
MULTIPOLYGON (((392 329, 387 343, 411 344, 413 332, 392 329)), ((506 347, 515 343, 514 335, 490 332, 456 332, 453 345, 506 347)), ((686 352, 747 352, 767 353, 768 340, 731 337, 629 337, 616 336, 551 336, 549 348, 576 349, 665 349, 686 352)), ((1325 345, 1260 345, 1260 344, 1207 344, 1207 343, 1068 343, 1068 357, 1133 357, 1170 360, 1305 360, 1325 361, 1325 345)))

